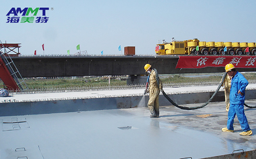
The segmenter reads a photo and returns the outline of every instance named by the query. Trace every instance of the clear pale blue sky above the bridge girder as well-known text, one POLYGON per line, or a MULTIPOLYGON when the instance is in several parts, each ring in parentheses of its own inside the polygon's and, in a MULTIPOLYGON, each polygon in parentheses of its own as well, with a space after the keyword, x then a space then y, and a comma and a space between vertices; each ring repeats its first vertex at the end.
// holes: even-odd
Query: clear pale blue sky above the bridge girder
POLYGON ((4 0, 0 40, 21 43, 23 55, 42 55, 42 44, 45 54, 74 54, 80 44, 95 55, 121 54, 119 45, 122 53, 135 46, 136 54, 155 55, 158 41, 172 37, 256 42, 255 7, 256 0, 4 0), (6 23, 12 7, 49 7, 49 21, 6 23))

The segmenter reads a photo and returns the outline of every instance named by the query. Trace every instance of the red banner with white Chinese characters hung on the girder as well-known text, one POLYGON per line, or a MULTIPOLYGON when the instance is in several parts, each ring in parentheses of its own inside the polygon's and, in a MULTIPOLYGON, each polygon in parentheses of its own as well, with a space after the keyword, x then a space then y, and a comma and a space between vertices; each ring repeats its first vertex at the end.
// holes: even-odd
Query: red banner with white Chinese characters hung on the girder
POLYGON ((256 56, 179 56, 176 68, 225 67, 256 68, 256 56))

